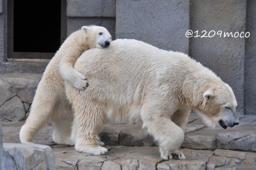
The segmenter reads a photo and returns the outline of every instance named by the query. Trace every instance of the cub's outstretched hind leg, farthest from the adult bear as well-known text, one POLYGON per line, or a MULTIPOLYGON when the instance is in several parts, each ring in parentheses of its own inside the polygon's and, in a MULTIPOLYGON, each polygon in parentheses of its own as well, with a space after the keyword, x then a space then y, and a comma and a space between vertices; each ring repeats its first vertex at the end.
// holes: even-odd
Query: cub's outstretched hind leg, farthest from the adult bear
POLYGON ((29 116, 20 130, 21 143, 31 142, 38 130, 41 129, 46 121, 49 120, 49 117, 54 114, 53 110, 57 103, 58 94, 49 91, 49 88, 47 84, 45 87, 38 86, 29 116))

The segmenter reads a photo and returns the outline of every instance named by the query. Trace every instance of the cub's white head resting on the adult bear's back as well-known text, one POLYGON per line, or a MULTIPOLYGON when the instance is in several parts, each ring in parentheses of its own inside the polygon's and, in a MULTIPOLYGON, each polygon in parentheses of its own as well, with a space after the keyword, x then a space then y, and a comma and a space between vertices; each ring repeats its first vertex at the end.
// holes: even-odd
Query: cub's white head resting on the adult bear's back
POLYGON ((87 35, 90 48, 105 48, 110 45, 112 39, 106 28, 90 25, 83 26, 81 29, 87 35))

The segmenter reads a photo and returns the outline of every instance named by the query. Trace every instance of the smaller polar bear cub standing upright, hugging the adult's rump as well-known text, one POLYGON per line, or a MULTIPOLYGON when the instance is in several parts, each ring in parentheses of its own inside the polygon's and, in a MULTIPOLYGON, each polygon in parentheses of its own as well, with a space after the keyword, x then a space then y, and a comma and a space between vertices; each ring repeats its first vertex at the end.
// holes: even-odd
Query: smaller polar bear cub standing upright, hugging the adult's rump
POLYGON ((77 58, 87 49, 109 46, 110 41, 108 30, 95 25, 84 26, 65 40, 38 84, 29 116, 20 130, 21 143, 31 142, 35 133, 51 120, 54 142, 73 145, 69 137, 73 113, 66 97, 64 80, 79 90, 86 88, 86 77, 73 68, 77 58))

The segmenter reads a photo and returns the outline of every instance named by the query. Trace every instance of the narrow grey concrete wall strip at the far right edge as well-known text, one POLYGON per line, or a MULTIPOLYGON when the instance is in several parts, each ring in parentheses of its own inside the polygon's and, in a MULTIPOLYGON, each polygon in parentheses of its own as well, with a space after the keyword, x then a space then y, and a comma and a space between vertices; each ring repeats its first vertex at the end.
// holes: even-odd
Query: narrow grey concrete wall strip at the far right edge
POLYGON ((246 31, 251 33, 245 40, 244 58, 244 112, 255 114, 256 110, 256 1, 247 1, 246 31))

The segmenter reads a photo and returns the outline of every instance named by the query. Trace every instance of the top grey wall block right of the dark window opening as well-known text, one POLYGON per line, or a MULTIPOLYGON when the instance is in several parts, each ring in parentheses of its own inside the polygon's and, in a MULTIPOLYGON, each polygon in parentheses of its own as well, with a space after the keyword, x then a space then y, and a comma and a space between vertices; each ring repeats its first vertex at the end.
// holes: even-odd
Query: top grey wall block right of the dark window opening
POLYGON ((115 0, 71 0, 67 1, 68 17, 115 17, 115 0))

